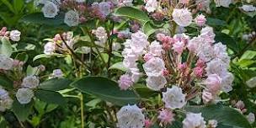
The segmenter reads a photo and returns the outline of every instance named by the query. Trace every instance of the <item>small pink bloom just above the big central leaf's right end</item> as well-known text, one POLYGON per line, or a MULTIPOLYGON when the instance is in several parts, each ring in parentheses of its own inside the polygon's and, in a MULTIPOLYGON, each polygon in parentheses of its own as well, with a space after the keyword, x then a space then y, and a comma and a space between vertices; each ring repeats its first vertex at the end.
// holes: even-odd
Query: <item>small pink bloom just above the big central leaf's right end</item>
POLYGON ((121 90, 127 90, 133 84, 131 77, 128 76, 128 75, 122 75, 120 77, 118 83, 119 83, 118 85, 119 85, 121 90))

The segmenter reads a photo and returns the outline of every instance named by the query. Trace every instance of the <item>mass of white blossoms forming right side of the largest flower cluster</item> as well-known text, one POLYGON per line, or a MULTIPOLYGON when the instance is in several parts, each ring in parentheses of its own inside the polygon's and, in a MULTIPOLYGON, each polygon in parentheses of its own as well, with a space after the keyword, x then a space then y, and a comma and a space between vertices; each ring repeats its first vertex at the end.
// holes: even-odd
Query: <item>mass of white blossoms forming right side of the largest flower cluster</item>
POLYGON ((211 27, 205 27, 201 30, 199 36, 189 40, 188 49, 194 51, 200 60, 206 62, 206 75, 216 74, 221 77, 221 90, 229 92, 232 90, 232 81, 234 79, 231 72, 228 72, 230 57, 227 55, 227 46, 221 42, 213 44, 215 34, 211 27))

